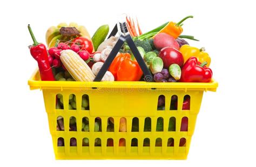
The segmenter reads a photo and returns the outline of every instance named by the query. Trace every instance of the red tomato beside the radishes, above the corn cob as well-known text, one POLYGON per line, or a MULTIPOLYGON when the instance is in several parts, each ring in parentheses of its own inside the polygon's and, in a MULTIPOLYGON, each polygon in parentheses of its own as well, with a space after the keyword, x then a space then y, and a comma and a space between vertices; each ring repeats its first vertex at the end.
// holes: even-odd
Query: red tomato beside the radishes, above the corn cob
POLYGON ((73 39, 71 46, 75 44, 80 46, 81 50, 86 50, 90 54, 93 51, 92 41, 86 37, 77 37, 73 39))

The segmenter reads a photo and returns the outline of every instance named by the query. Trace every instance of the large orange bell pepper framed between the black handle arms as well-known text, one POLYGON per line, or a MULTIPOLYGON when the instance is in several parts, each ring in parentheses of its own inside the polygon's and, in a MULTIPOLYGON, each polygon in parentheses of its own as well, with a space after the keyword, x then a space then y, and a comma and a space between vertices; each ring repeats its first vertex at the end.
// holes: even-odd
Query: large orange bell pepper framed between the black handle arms
POLYGON ((116 81, 139 81, 142 78, 142 69, 136 60, 131 60, 131 54, 120 53, 114 58, 109 67, 116 81))

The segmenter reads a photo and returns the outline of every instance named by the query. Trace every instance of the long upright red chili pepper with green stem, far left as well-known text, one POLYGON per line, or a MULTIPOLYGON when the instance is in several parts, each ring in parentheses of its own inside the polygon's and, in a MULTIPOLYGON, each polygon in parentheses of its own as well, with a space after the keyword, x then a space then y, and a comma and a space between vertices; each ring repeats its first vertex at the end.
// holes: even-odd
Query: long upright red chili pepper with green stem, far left
POLYGON ((39 44, 31 30, 30 25, 28 25, 29 32, 33 39, 33 45, 29 46, 30 53, 32 57, 37 61, 41 80, 42 81, 55 81, 52 73, 51 65, 48 60, 48 53, 44 44, 39 44))

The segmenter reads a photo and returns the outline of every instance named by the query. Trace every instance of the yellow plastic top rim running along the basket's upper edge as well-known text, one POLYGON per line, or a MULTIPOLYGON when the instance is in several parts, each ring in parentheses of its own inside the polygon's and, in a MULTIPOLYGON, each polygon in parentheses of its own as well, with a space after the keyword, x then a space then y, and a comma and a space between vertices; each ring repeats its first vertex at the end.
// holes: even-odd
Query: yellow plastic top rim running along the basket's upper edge
POLYGON ((187 89, 215 92, 218 82, 145 82, 145 81, 104 81, 104 82, 80 82, 80 81, 41 81, 38 68, 28 80, 30 89, 49 88, 157 88, 157 89, 187 89))

